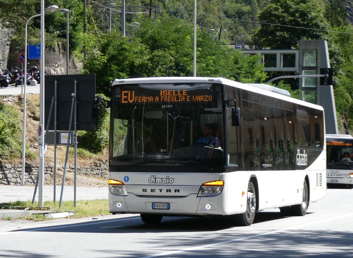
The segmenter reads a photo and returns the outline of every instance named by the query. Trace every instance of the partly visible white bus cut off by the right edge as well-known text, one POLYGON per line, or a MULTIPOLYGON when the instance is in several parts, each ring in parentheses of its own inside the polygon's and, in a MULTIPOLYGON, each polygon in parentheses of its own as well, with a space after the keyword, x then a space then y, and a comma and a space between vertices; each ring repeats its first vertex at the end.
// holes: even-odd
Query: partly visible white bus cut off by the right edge
POLYGON ((326 134, 328 184, 353 188, 353 137, 348 134, 326 134))

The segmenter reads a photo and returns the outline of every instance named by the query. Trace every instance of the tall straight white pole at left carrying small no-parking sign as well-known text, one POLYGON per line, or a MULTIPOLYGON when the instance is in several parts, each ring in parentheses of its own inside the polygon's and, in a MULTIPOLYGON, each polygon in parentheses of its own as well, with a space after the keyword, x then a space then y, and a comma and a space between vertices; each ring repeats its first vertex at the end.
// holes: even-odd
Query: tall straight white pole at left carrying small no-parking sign
MULTIPOLYGON (((41 83, 40 83, 40 115, 39 115, 39 124, 44 125, 44 82, 45 82, 45 73, 44 73, 44 0, 41 0, 41 83)), ((38 176, 39 180, 39 197, 38 197, 38 206, 43 207, 43 188, 44 188, 44 133, 41 133, 39 136, 41 138, 42 145, 38 146, 39 149, 39 170, 38 176)))

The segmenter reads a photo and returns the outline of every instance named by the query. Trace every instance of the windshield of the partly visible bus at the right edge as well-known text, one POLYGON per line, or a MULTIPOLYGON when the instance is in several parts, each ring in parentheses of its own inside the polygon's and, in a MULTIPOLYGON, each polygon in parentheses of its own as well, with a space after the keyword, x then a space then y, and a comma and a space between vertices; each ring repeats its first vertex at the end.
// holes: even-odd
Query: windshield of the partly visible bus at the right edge
POLYGON ((353 168, 353 139, 326 139, 327 168, 353 168))

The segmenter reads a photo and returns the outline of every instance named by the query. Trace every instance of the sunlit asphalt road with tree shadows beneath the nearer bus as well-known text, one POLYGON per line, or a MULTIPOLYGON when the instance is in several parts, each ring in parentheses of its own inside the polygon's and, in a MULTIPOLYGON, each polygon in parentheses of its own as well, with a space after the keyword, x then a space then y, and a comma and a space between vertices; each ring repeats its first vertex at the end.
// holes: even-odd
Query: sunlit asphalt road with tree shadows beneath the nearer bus
MULTIPOLYGON (((274 193, 275 194, 275 193, 274 193)), ((136 215, 0 222, 0 257, 352 257, 353 190, 328 189, 304 217, 258 212, 250 227, 223 218, 136 215)))

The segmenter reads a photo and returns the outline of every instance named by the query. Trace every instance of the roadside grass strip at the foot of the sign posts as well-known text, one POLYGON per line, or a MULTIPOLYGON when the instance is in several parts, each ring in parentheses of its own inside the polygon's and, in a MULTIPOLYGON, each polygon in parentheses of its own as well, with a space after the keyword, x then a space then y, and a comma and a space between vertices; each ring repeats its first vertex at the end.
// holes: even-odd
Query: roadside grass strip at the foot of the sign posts
MULTIPOLYGON (((19 209, 19 210, 47 210, 44 207, 50 207, 50 211, 74 211, 73 216, 70 218, 86 218, 109 215, 109 202, 107 199, 103 200, 89 200, 89 201, 76 201, 76 207, 73 207, 73 201, 62 201, 61 208, 59 208, 59 201, 46 201, 43 207, 38 207, 38 202, 32 205, 31 201, 15 201, 0 203, 0 209, 19 209)), ((33 214, 20 218, 22 220, 43 221, 49 220, 43 214, 33 214)), ((6 218, 6 220, 13 220, 6 218)))

